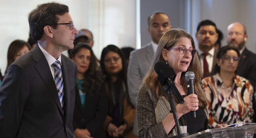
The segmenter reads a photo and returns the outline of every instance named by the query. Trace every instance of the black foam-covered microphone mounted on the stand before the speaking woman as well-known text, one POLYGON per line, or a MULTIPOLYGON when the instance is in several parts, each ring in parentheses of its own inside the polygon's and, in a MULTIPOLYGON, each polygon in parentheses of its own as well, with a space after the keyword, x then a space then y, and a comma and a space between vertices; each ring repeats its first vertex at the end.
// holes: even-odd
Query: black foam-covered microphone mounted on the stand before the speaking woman
POLYGON ((172 90, 174 95, 176 96, 178 102, 180 104, 184 103, 183 98, 180 95, 180 92, 176 88, 173 82, 173 76, 175 76, 175 72, 172 67, 169 67, 164 61, 158 61, 155 64, 155 72, 158 74, 159 82, 164 86, 168 85, 168 87, 172 90))

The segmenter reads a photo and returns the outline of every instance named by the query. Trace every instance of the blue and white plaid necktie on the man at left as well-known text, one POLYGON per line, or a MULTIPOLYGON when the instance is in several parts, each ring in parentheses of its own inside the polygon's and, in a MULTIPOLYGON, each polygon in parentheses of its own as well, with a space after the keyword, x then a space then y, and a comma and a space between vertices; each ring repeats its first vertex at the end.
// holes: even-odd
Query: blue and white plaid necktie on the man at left
POLYGON ((64 106, 64 91, 63 91, 63 80, 62 80, 62 73, 61 73, 61 64, 60 61, 56 60, 52 66, 54 67, 54 80, 55 80, 55 85, 58 91, 58 95, 60 98, 61 102, 61 107, 63 109, 64 106))

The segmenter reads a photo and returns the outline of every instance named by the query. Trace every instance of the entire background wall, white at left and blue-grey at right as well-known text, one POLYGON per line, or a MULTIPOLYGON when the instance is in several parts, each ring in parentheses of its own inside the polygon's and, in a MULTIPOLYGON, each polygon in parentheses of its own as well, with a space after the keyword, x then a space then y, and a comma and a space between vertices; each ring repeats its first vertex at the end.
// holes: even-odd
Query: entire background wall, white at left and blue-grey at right
MULTIPOLYGON (((94 35, 93 51, 100 58, 101 50, 108 44, 118 47, 136 47, 136 1, 140 4, 141 44, 151 40, 147 32, 147 17, 155 10, 170 16, 173 28, 185 29, 195 38, 198 22, 211 19, 224 35, 232 22, 242 22, 249 36, 246 46, 256 52, 256 1, 254 0, 56 0, 70 8, 76 29, 89 29, 94 35)), ((28 13, 38 4, 50 0, 0 0, 0 69, 7 64, 7 50, 15 39, 27 41, 29 36, 28 13)), ((138 35, 139 36, 139 35, 138 35)), ((195 39, 197 46, 197 41, 195 39)), ((66 54, 67 52, 64 52, 66 54)), ((67 55, 67 54, 66 54, 67 55)))

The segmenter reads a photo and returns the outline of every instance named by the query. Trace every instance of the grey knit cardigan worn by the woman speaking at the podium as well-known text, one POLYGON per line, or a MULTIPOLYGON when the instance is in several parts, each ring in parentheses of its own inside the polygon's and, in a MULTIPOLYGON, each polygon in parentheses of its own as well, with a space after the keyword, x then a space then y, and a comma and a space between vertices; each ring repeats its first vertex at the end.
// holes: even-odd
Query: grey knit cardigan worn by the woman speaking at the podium
MULTIPOLYGON (((208 110, 204 109, 206 121, 205 130, 208 126, 208 110)), ((163 96, 157 95, 149 86, 142 84, 137 99, 137 121, 139 127, 139 137, 143 138, 168 138, 177 135, 176 126, 167 134, 164 130, 162 121, 170 113, 170 103, 163 96)), ((179 119, 182 133, 187 133, 186 118, 181 116, 179 119)))

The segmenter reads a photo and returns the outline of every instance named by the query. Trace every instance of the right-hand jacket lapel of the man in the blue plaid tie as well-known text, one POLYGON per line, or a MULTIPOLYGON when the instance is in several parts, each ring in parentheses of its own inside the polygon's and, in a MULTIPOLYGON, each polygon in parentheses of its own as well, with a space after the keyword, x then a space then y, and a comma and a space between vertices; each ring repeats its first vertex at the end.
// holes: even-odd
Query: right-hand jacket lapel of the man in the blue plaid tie
MULTIPOLYGON (((70 69, 70 66, 67 64, 67 61, 61 54, 61 70, 62 70, 62 77, 63 77, 63 84, 64 84, 65 111, 70 110, 70 87, 69 87, 70 84, 68 83, 68 79, 72 77, 70 76, 69 69, 70 69)), ((67 121, 67 118, 68 118, 67 116, 69 116, 68 113, 69 112, 65 113, 65 121, 67 121)))

